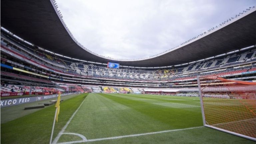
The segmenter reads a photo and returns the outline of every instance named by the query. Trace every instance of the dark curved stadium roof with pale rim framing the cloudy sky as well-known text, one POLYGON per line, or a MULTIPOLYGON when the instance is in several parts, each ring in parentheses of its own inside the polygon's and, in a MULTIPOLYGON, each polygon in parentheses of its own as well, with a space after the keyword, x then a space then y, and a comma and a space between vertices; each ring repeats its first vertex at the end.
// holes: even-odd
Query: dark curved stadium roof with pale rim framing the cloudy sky
POLYGON ((1 0, 1 26, 22 39, 67 57, 98 63, 116 62, 132 67, 179 65, 255 45, 255 17, 256 11, 252 9, 220 28, 157 56, 114 60, 94 54, 78 44, 64 26, 53 1, 1 0))

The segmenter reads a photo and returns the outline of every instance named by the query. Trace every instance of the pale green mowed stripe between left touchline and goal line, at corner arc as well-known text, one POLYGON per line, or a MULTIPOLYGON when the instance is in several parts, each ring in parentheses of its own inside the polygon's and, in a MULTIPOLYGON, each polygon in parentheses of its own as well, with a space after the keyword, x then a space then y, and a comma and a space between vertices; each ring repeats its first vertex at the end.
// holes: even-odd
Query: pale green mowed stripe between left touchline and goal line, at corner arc
MULTIPOLYGON (((168 124, 156 121, 100 94, 92 93, 87 96, 65 132, 79 133, 87 139, 97 139, 168 128, 168 124)), ((68 137, 70 136, 62 135, 58 142, 66 142, 68 137)))

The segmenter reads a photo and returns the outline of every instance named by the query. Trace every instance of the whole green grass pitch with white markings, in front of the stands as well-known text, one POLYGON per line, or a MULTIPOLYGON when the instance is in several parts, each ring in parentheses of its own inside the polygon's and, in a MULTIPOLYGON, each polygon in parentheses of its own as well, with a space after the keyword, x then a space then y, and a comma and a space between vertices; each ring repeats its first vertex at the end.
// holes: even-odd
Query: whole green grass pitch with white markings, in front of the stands
MULTIPOLYGON (((202 127, 197 97, 90 93, 65 100, 60 106, 53 137, 57 143, 255 143, 202 127)), ((1 124, 1 143, 49 143, 54 111, 49 106, 1 124)))

